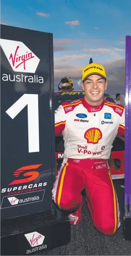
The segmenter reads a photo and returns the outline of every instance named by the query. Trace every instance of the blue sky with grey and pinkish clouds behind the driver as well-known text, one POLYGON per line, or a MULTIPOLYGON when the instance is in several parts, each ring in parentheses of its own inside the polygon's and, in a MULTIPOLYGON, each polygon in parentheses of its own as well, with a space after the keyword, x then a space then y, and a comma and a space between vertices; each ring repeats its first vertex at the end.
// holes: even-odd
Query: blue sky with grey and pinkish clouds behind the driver
POLYGON ((107 92, 125 94, 131 0, 1 0, 1 24, 53 33, 55 89, 66 75, 80 89, 92 57, 105 67, 107 92))

